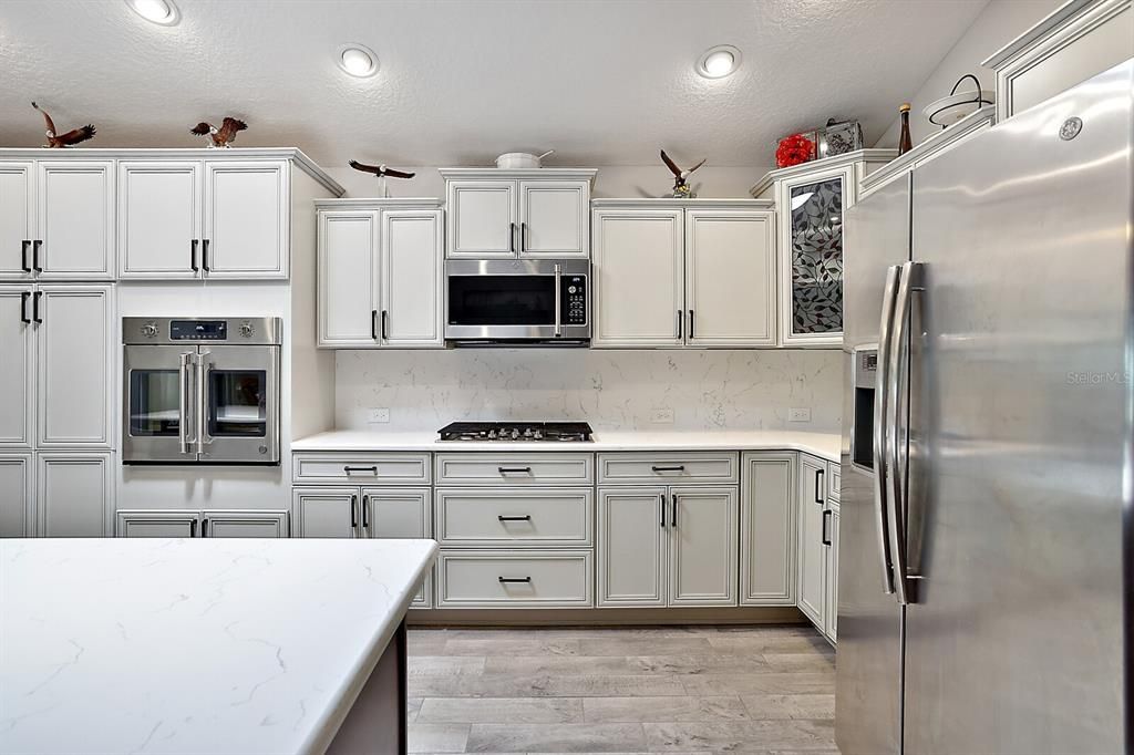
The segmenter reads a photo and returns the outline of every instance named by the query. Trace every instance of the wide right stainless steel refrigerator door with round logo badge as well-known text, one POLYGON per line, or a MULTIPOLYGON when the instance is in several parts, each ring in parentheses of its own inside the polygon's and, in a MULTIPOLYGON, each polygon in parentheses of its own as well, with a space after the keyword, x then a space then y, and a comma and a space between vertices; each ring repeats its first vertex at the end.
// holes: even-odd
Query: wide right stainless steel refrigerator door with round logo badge
POLYGON ((915 175, 909 755, 1124 749, 1132 91, 1127 62, 915 175))

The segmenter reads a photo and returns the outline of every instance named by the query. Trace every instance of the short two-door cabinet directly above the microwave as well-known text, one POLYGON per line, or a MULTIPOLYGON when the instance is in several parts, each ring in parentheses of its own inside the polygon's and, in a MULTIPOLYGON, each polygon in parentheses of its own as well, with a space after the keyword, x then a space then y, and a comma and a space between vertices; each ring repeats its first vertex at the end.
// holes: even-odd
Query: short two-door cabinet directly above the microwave
POLYGON ((448 257, 590 257, 594 170, 447 168, 448 257))

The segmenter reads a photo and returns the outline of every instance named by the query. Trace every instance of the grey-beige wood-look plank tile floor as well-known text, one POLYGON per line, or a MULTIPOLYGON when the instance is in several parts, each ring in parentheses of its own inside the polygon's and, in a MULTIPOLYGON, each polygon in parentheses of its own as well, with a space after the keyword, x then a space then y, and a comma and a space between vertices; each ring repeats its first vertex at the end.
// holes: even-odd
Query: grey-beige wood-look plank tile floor
POLYGON ((412 753, 837 753, 810 627, 411 629, 412 753))

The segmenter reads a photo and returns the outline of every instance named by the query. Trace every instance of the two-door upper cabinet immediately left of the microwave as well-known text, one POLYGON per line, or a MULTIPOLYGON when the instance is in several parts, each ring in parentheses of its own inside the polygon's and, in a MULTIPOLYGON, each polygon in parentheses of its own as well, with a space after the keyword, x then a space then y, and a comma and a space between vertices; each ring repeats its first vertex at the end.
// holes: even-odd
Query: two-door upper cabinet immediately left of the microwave
POLYGON ((442 348, 435 200, 328 200, 319 215, 319 345, 442 348))

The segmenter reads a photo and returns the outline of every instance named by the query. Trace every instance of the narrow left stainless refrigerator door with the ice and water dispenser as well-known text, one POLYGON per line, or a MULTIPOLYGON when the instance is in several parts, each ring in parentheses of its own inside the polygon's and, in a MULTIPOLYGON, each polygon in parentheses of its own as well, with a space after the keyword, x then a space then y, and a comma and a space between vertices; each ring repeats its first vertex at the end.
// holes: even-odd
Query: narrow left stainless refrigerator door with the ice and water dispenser
MULTIPOLYGON (((836 738, 845 755, 896 754, 900 747, 903 609, 888 594, 889 559, 880 523, 885 490, 874 434, 879 342, 888 270, 909 255, 909 184, 899 180, 845 215, 844 391, 839 517, 836 738), (871 368, 873 366, 873 370, 871 368)), ((892 302, 895 291, 889 290, 892 302)), ((882 354, 881 356, 885 356, 882 354)))

